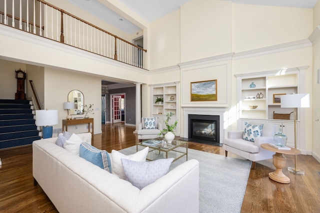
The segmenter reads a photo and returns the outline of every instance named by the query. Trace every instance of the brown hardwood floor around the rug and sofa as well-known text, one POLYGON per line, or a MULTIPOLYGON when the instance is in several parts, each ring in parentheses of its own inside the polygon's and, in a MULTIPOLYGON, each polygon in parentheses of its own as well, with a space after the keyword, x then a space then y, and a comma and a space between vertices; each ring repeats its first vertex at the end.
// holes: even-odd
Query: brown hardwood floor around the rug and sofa
MULTIPOLYGON (((92 144, 108 152, 132 146, 138 141, 133 130, 122 123, 102 125, 102 134, 95 134, 92 144)), ((194 142, 188 146, 224 155, 222 147, 194 142)), ((298 167, 305 175, 295 175, 286 170, 294 166, 294 157, 285 156, 283 173, 291 182, 269 179, 272 160, 258 161, 250 170, 241 212, 320 212, 320 163, 310 155, 298 155, 298 167)), ((237 156, 228 153, 228 157, 237 156)), ((41 187, 33 186, 31 145, 0 150, 0 158, 0 212, 57 212, 41 187)))

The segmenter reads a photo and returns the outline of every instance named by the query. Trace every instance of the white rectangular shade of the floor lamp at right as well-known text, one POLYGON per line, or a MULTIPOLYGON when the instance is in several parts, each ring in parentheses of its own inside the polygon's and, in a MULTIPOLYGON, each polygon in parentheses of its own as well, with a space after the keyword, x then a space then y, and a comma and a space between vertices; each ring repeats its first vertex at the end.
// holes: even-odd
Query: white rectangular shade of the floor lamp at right
POLYGON ((308 93, 281 95, 281 108, 306 108, 310 107, 308 93))

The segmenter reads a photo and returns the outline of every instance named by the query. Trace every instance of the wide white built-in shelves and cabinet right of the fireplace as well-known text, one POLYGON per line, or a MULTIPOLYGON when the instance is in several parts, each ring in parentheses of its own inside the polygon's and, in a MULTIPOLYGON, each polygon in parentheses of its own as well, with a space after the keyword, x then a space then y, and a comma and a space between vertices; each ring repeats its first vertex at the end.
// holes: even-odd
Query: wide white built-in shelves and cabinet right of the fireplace
MULTIPOLYGON (((274 113, 289 114, 294 108, 281 108, 279 98, 281 94, 304 93, 305 69, 307 66, 295 68, 282 68, 245 74, 236 74, 237 103, 239 119, 237 129, 244 129, 244 122, 273 123, 276 131, 281 128, 287 136, 287 146, 294 146, 294 113, 289 119, 274 119, 274 113), (255 87, 250 87, 252 83, 255 87), (250 106, 256 105, 256 108, 250 106)), ((305 147, 303 128, 304 110, 296 109, 297 147, 301 148, 300 141, 305 147), (302 140, 300 139, 302 138, 302 140)))

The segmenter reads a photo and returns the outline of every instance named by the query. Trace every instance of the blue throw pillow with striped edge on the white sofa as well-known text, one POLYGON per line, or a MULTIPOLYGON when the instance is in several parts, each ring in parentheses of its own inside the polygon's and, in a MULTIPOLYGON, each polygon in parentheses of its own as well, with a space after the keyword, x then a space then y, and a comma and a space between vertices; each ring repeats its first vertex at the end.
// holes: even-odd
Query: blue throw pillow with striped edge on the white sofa
POLYGON ((79 156, 111 173, 111 161, 106 150, 100 150, 89 143, 82 142, 79 156))

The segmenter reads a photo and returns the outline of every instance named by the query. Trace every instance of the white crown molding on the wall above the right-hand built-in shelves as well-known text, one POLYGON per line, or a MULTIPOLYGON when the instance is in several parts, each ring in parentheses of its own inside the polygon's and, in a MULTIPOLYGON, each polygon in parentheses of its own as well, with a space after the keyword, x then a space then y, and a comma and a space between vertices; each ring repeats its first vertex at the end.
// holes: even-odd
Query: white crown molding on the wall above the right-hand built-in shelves
POLYGON ((305 48, 310 46, 312 46, 312 44, 309 41, 309 39, 303 39, 303 40, 293 41, 289 43, 282 43, 278 45, 234 53, 232 59, 238 60, 246 57, 255 57, 255 56, 260 56, 265 54, 273 54, 277 52, 289 51, 293 49, 300 49, 300 48, 305 48))

